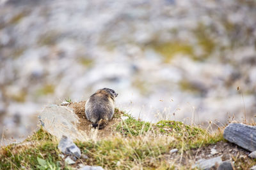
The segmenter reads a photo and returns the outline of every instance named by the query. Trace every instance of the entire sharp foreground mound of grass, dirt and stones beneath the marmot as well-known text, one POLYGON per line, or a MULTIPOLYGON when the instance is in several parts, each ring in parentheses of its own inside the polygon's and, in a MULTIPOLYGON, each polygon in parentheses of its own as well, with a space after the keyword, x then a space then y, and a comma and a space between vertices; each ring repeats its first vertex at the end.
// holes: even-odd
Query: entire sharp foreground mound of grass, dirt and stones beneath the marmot
POLYGON ((223 138, 224 127, 212 133, 204 127, 169 120, 150 124, 116 108, 109 124, 98 130, 92 129, 91 123, 81 115, 83 101, 65 105, 45 108, 40 115, 42 127, 38 131, 22 143, 1 147, 0 169, 232 170, 256 166, 256 151, 252 152, 255 140, 250 144, 250 138, 256 138, 256 134, 255 131, 248 132, 248 129, 256 128, 255 123, 254 126, 230 124, 225 128, 223 138), (60 124, 53 127, 56 131, 52 131, 51 124, 56 122, 56 117, 49 113, 56 108, 63 112, 58 113, 60 124), (243 132, 244 138, 233 138, 227 129, 234 126, 239 127, 234 132, 248 133, 243 132), (65 131, 62 132, 63 127, 65 131), (74 132, 74 129, 77 130, 74 132), (80 136, 81 133, 84 136, 80 136), (226 140, 228 136, 232 137, 233 143, 226 140))

